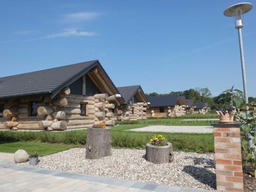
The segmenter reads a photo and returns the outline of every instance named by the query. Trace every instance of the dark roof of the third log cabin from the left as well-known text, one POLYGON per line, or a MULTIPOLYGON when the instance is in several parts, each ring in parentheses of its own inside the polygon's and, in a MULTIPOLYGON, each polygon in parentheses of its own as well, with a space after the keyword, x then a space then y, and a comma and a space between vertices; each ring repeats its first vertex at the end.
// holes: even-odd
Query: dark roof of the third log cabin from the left
POLYGON ((147 97, 148 102, 151 106, 174 106, 177 104, 179 95, 169 95, 169 96, 157 96, 157 97, 147 97))

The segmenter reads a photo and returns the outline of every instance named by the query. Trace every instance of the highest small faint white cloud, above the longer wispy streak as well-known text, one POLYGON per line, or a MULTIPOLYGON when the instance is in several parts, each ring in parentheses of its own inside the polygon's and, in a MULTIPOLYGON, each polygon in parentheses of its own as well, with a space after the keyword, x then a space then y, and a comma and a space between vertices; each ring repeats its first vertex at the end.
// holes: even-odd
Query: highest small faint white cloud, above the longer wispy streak
POLYGON ((69 22, 81 22, 83 20, 90 20, 100 15, 98 12, 77 12, 69 13, 64 16, 64 19, 69 22))

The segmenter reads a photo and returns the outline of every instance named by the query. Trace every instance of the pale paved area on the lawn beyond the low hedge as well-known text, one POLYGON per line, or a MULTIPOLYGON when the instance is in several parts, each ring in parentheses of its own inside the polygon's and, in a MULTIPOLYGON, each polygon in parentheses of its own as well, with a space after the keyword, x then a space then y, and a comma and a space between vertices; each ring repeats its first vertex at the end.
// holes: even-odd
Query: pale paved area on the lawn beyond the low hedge
POLYGON ((150 125, 141 128, 125 130, 133 132, 167 132, 167 133, 214 133, 212 126, 167 126, 167 125, 150 125))

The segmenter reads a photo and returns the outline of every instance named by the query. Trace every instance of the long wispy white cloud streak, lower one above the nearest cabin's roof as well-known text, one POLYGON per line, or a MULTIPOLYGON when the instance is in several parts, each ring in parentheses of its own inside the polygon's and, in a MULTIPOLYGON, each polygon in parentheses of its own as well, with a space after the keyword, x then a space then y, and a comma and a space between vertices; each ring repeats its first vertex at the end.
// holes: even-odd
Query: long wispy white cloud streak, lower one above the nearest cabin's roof
POLYGON ((56 37, 70 37, 70 36, 94 36, 96 33, 94 32, 88 32, 88 31, 78 31, 77 28, 72 29, 64 29, 62 32, 59 33, 53 33, 44 36, 43 38, 56 38, 56 37))

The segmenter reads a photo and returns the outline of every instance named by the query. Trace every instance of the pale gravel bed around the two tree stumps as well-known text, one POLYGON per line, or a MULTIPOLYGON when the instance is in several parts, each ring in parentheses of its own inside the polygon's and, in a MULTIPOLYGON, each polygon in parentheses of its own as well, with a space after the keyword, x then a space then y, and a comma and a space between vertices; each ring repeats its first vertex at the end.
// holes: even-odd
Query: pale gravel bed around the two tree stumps
MULTIPOLYGON (((213 154, 174 152, 172 163, 154 164, 144 159, 145 152, 113 148, 112 156, 89 160, 85 158, 85 148, 72 148, 40 157, 36 167, 181 187, 216 189, 213 154)), ((20 164, 29 166, 28 162, 20 164)))

